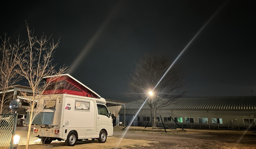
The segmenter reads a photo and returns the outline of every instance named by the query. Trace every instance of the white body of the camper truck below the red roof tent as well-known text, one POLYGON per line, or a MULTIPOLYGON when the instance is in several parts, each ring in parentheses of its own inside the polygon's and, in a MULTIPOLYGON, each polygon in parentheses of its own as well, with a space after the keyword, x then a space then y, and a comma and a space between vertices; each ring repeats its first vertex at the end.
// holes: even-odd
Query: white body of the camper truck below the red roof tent
POLYGON ((113 135, 111 114, 106 107, 106 100, 102 97, 97 99, 55 94, 45 95, 38 101, 40 104, 45 102, 48 102, 49 106, 46 105, 33 120, 34 125, 40 125, 34 127, 35 137, 44 139, 48 137, 50 140, 60 141, 68 139, 70 132, 75 132, 76 139, 98 139, 102 130, 106 131, 107 136, 113 135), (83 103, 86 108, 76 107, 78 103, 83 103))

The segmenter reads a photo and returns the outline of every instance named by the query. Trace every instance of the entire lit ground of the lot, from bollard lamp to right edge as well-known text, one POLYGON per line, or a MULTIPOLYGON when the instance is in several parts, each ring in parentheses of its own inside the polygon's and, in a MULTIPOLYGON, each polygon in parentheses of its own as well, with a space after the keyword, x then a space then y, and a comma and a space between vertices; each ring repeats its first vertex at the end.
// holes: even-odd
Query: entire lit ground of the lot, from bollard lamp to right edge
MULTIPOLYGON (((256 149, 256 133, 253 131, 228 131, 228 130, 202 130, 186 129, 151 131, 152 128, 134 127, 136 131, 127 131, 123 137, 122 127, 115 127, 112 137, 106 143, 97 140, 78 141, 78 145, 67 147, 64 141, 53 141, 50 146, 34 143, 37 137, 31 132, 30 148, 129 148, 129 149, 256 149), (124 138, 121 140, 121 138, 124 138), (121 142, 120 142, 121 140, 121 142), (118 143, 120 142, 119 146, 118 143)), ((131 128, 131 130, 134 128, 131 128)), ((24 149, 26 144, 27 127, 17 127, 16 134, 20 135, 18 149, 24 149)))

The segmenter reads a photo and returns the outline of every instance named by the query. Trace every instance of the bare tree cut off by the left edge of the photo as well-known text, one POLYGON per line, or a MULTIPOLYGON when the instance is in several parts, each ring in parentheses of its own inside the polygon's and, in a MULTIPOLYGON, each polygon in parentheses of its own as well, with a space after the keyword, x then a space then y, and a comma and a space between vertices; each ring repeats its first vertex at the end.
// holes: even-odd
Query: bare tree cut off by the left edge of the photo
POLYGON ((22 76, 18 75, 16 72, 16 69, 18 69, 17 58, 18 55, 23 55, 23 52, 26 51, 24 42, 20 42, 18 39, 16 44, 10 44, 10 38, 7 38, 6 36, 7 34, 5 33, 4 38, 0 37, 2 40, 2 44, 0 46, 0 90, 2 91, 0 114, 3 111, 3 107, 6 107, 5 105, 12 100, 10 95, 6 96, 8 89, 22 79, 22 76))

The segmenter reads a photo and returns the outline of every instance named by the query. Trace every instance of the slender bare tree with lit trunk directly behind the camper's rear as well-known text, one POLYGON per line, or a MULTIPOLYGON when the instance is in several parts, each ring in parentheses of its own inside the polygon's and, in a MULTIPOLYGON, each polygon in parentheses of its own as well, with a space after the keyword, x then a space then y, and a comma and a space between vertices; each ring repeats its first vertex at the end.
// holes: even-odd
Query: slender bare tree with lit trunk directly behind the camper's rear
MULTIPOLYGON (((59 41, 54 43, 52 40, 52 42, 48 43, 51 37, 46 38, 43 34, 38 39, 34 36, 34 32, 29 29, 28 24, 26 24, 26 29, 28 32, 28 52, 25 57, 22 57, 21 55, 18 56, 17 63, 20 69, 16 71, 28 81, 28 84, 32 89, 31 95, 24 92, 21 93, 24 100, 29 103, 28 109, 30 111, 30 121, 26 143, 26 149, 28 149, 32 121, 34 117, 42 111, 44 105, 47 104, 47 102, 42 105, 36 105, 36 103, 46 94, 45 91, 47 90, 47 87, 52 85, 52 81, 58 81, 58 75, 63 74, 66 71, 66 67, 62 67, 56 71, 56 64, 52 64, 52 57, 55 49, 58 47, 59 41), (51 75, 57 75, 57 77, 53 77, 53 80, 47 80, 42 83, 43 77, 51 75), (36 106, 37 108, 35 108, 36 106)), ((56 86, 56 88, 57 87, 58 86, 56 86)), ((48 102, 50 102, 50 100, 48 102)))

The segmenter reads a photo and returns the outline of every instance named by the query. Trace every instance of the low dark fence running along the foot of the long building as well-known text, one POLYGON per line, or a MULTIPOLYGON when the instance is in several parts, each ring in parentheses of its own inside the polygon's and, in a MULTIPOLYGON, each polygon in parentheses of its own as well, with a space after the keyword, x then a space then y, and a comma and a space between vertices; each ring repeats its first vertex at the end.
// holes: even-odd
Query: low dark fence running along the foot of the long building
MULTIPOLYGON (((147 121, 138 122, 138 126, 145 127, 147 121)), ((208 124, 208 123, 178 123, 182 128, 191 129, 220 129, 220 130, 256 130, 256 125, 240 125, 240 124, 208 124)), ((172 122, 157 122, 156 127, 169 127, 169 128, 179 128, 177 124, 172 122)), ((148 123, 148 127, 151 126, 151 121, 148 123)))

